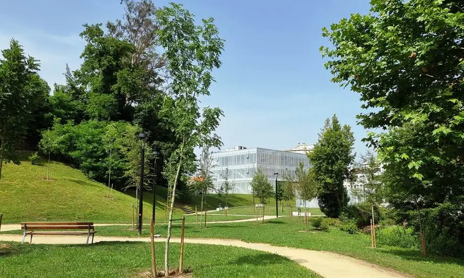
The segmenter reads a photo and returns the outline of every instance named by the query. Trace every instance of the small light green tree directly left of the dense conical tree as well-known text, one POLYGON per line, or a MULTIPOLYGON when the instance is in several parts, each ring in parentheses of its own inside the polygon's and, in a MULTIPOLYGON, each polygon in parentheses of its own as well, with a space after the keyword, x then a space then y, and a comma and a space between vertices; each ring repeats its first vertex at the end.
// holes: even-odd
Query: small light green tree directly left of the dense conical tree
POLYGON ((300 162, 295 170, 295 187, 298 196, 304 201, 311 201, 318 196, 318 183, 313 168, 305 169, 305 164, 300 162))

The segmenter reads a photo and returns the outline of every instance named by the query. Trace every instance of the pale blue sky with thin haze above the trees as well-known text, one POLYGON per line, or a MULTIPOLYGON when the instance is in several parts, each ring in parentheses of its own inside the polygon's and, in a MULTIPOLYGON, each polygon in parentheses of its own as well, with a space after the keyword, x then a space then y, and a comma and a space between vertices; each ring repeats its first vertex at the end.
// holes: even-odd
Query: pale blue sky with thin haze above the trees
MULTIPOLYGON (((172 0, 171 0, 172 1, 172 0)), ((169 1, 154 0, 162 7, 169 1)), ((225 40, 222 67, 203 106, 225 114, 217 134, 223 148, 242 145, 283 149, 314 143, 326 118, 336 114, 352 127, 355 151, 367 148, 367 131, 356 123, 359 95, 331 82, 319 53, 330 46, 321 29, 365 14, 369 0, 178 0, 198 19, 213 17, 225 40)), ((120 0, 0 0, 0 49, 14 38, 41 61, 51 87, 64 83, 66 63, 78 69, 82 24, 122 18, 120 0)))

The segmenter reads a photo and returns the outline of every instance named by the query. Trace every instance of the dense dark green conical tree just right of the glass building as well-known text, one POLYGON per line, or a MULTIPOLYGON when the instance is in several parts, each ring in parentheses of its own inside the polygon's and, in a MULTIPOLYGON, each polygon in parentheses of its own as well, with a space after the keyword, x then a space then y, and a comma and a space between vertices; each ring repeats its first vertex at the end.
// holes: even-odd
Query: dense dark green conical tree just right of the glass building
POLYGON ((331 121, 326 120, 314 150, 308 154, 320 186, 319 207, 329 217, 338 217, 349 201, 343 181, 352 179, 348 167, 354 160, 353 143, 350 127, 342 127, 333 115, 331 121))

